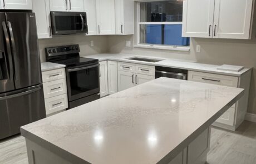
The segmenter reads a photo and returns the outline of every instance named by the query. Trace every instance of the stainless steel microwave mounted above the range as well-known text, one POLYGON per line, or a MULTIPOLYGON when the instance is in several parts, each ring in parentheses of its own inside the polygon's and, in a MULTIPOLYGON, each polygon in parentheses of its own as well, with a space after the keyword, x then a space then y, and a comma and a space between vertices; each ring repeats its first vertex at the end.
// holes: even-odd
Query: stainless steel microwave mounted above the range
POLYGON ((86 12, 51 12, 52 34, 88 33, 86 12))

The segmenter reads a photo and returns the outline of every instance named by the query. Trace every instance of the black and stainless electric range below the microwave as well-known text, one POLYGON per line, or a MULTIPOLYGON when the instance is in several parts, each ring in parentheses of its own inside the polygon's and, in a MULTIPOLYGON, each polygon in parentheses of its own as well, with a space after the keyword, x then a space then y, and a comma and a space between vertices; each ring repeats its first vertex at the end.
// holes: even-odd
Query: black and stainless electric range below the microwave
POLYGON ((45 50, 47 62, 66 65, 69 109, 100 98, 98 59, 80 57, 78 44, 45 50))

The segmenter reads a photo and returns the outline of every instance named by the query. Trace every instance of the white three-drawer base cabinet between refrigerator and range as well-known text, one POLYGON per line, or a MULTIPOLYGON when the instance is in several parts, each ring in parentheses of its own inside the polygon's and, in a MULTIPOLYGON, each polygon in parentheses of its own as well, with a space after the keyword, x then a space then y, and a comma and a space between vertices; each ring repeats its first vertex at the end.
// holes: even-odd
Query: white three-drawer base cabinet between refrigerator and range
POLYGON ((68 108, 65 68, 42 72, 46 115, 68 108))

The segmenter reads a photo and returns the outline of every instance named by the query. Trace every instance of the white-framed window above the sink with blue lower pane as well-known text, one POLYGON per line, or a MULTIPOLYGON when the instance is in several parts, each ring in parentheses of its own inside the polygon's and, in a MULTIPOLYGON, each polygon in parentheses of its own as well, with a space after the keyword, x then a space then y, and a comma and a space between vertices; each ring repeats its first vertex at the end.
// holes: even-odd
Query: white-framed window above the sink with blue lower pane
POLYGON ((183 0, 138 3, 138 46, 188 50, 182 37, 183 0))

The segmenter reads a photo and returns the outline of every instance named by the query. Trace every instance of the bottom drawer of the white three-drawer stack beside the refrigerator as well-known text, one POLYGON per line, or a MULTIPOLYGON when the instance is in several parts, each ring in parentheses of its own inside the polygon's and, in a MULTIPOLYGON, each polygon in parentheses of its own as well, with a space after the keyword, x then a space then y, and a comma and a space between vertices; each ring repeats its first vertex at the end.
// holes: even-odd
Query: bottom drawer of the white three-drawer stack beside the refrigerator
POLYGON ((45 99, 46 115, 68 108, 67 94, 45 99))

